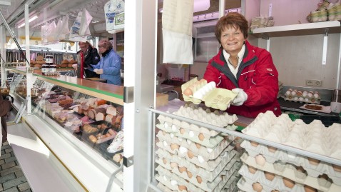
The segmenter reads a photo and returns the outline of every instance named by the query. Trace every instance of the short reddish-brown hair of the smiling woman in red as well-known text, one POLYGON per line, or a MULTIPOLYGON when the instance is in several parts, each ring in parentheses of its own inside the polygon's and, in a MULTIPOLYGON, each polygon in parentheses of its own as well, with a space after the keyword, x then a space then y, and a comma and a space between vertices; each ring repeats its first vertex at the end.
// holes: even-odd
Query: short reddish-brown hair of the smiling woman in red
POLYGON ((230 12, 227 15, 221 17, 215 25, 215 37, 218 39, 219 44, 220 42, 220 36, 221 31, 223 31, 225 28, 233 27, 235 29, 240 29, 242 31, 244 38, 248 38, 248 21, 245 19, 245 16, 242 14, 239 14, 237 12, 230 12))

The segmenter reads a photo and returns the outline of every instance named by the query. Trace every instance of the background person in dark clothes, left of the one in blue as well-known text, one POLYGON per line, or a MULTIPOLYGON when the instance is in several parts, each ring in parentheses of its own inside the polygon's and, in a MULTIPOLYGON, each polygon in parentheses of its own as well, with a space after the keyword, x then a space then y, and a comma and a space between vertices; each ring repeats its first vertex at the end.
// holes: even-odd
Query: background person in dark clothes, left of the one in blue
MULTIPOLYGON (((91 77, 98 77, 99 75, 93 72, 93 67, 91 64, 98 64, 100 61, 100 57, 98 54, 98 51, 96 48, 93 48, 91 44, 86 41, 86 42, 79 42, 78 43, 79 48, 81 49, 80 51, 83 53, 83 68, 84 68, 84 76, 86 78, 91 78, 91 77)), ((80 52, 78 51, 77 54, 80 52)), ((77 69, 77 64, 73 64, 73 68, 77 69)))

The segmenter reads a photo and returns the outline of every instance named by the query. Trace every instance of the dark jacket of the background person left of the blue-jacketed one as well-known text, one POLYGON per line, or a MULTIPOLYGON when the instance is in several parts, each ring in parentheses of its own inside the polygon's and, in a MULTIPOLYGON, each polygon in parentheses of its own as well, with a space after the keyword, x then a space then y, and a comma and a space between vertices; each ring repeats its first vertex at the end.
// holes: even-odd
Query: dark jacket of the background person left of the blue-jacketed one
MULTIPOLYGON (((77 52, 77 54, 79 51, 77 52)), ((99 57, 98 51, 96 48, 92 48, 92 46, 88 47, 88 54, 85 56, 84 59, 84 67, 88 68, 84 70, 86 78, 89 77, 98 77, 99 75, 93 72, 93 67, 91 65, 96 65, 101 60, 99 57)))

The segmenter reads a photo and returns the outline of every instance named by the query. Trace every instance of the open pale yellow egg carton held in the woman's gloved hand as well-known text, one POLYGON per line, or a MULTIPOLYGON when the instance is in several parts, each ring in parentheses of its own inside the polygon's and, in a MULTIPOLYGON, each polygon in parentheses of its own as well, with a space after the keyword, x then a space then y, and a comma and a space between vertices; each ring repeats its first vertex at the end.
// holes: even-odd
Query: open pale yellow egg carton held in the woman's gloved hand
POLYGON ((215 82, 205 79, 191 79, 181 86, 183 99, 195 104, 205 101, 205 106, 225 111, 237 94, 228 89, 215 88, 215 82))

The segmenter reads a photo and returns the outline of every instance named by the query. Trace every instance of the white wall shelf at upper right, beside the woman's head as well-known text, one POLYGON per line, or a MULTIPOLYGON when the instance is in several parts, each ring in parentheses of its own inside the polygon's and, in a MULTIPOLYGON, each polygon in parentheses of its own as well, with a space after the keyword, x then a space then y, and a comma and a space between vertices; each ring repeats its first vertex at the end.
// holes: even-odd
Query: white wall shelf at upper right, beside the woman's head
POLYGON ((263 36, 279 37, 279 36, 301 36, 325 34, 325 29, 329 29, 329 34, 340 33, 340 21, 325 21, 309 24, 295 24, 287 26, 271 26, 265 28, 257 28, 253 30, 251 35, 258 38, 263 36))

